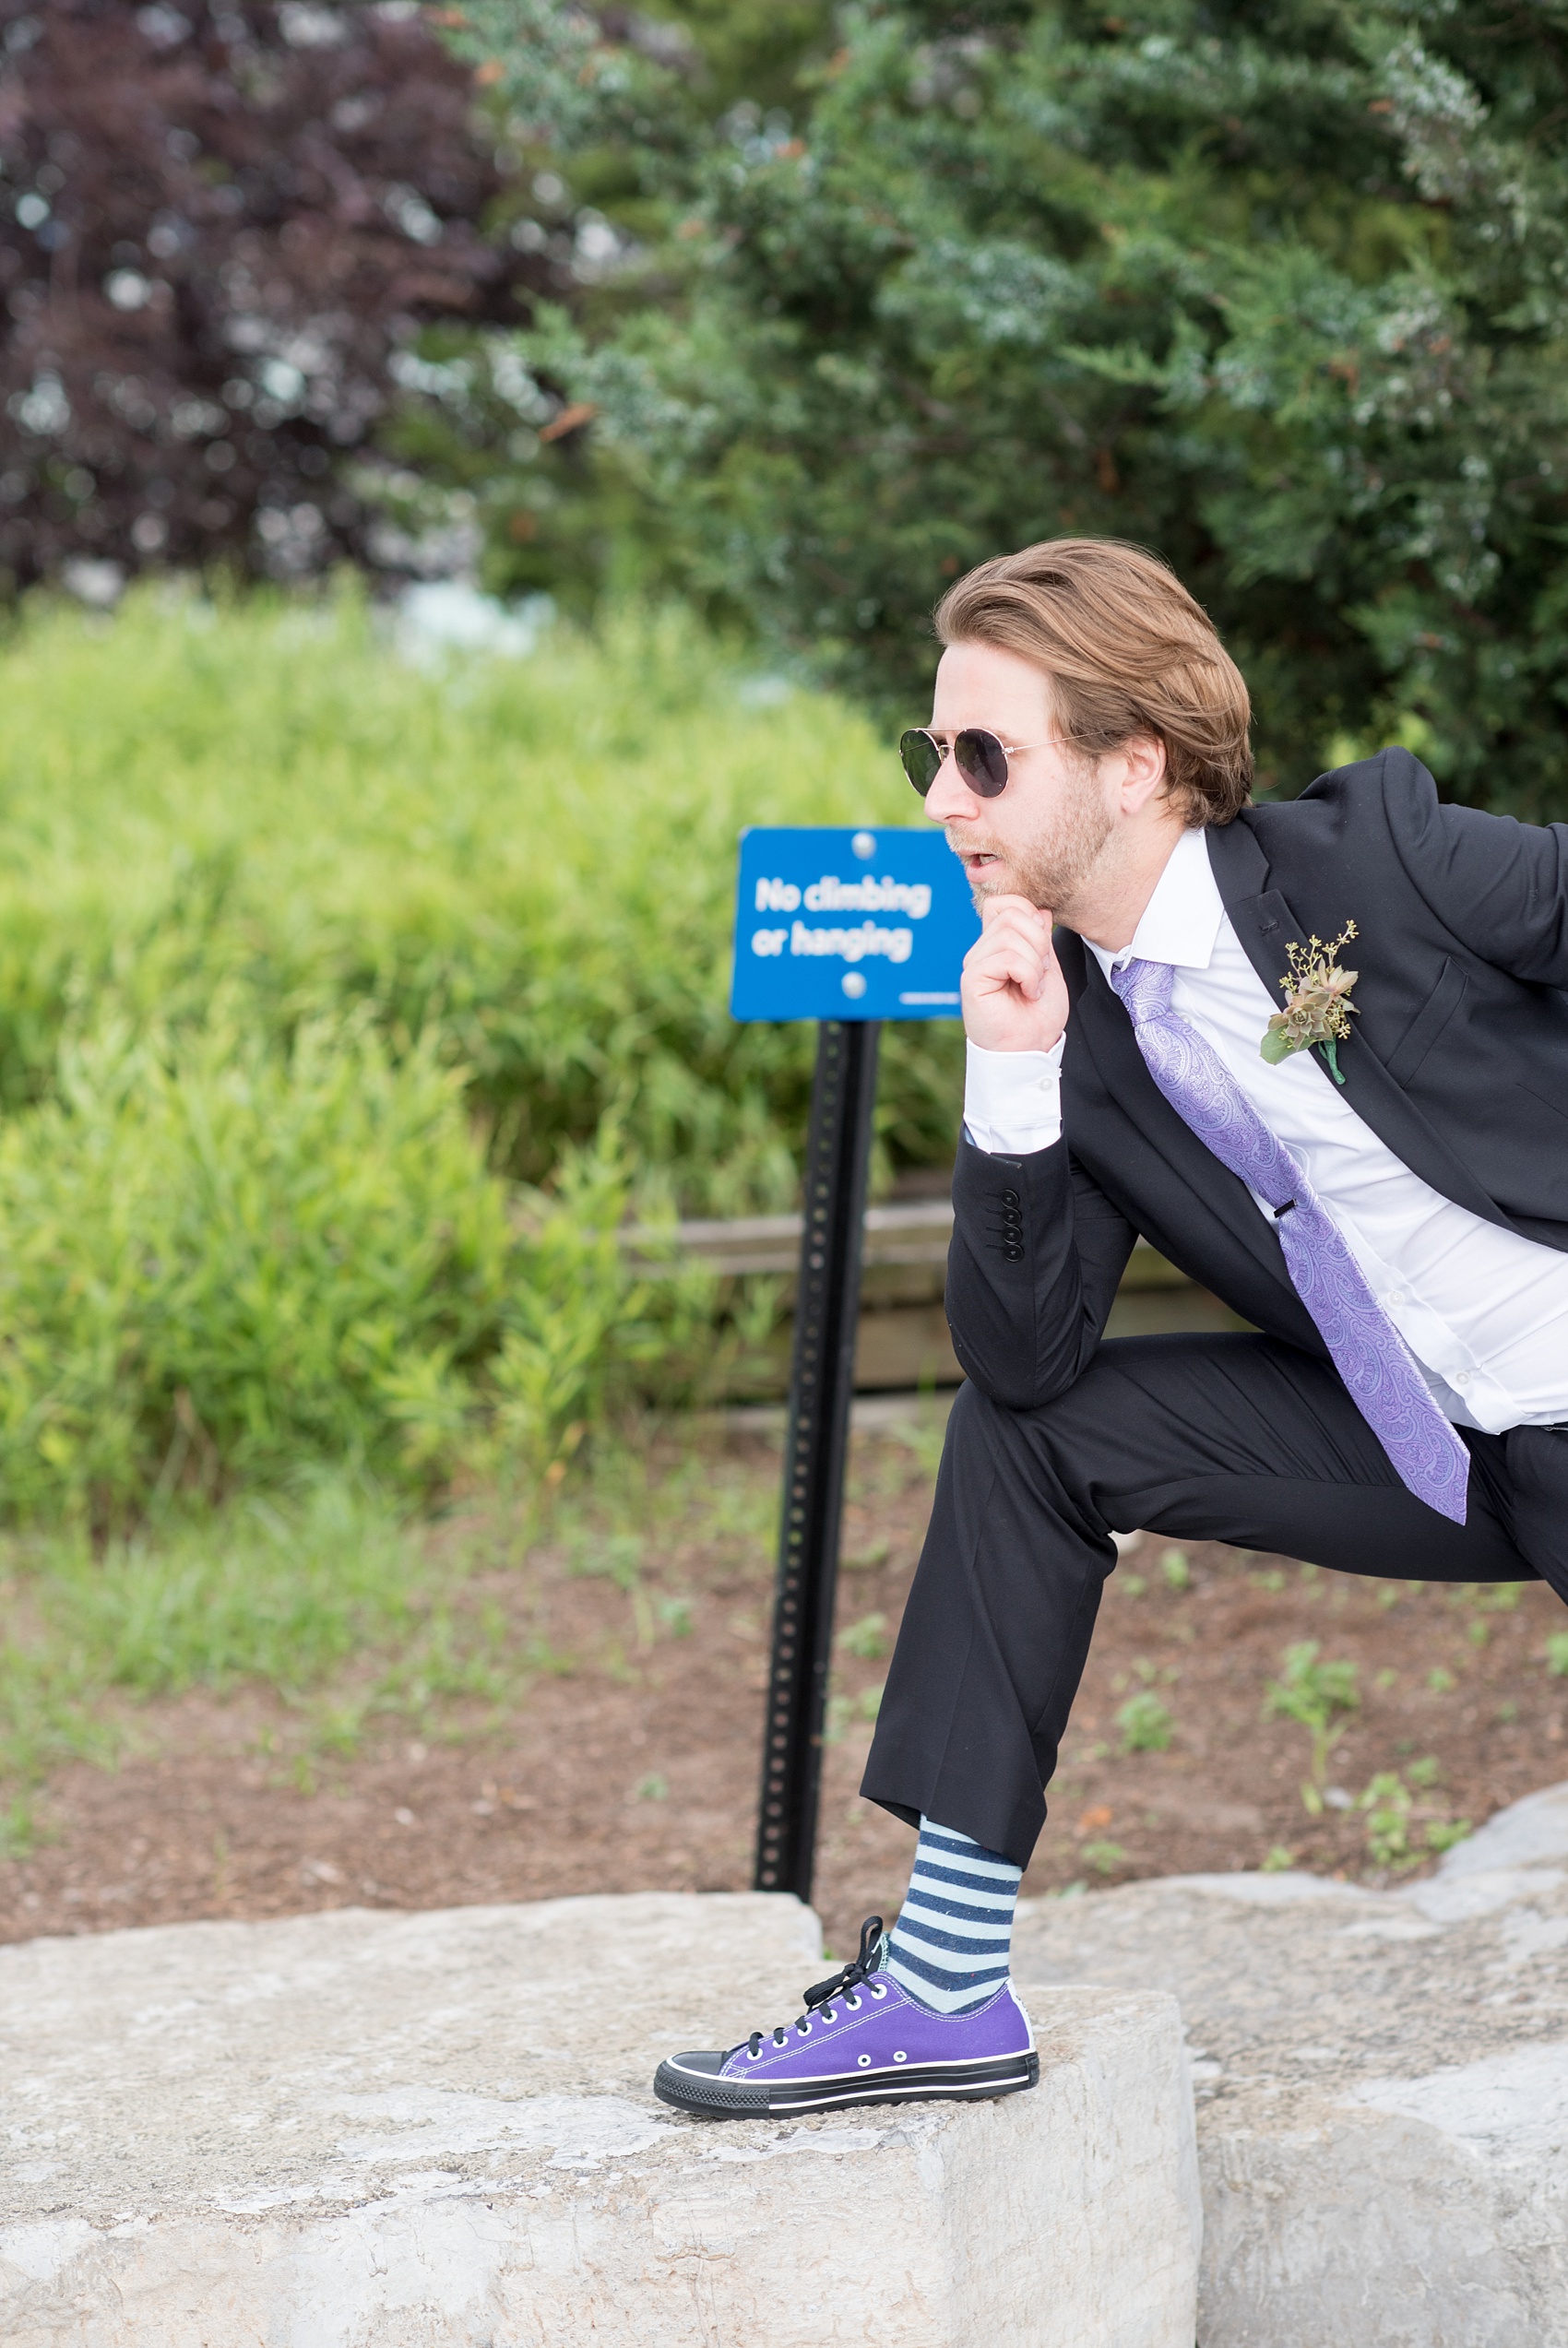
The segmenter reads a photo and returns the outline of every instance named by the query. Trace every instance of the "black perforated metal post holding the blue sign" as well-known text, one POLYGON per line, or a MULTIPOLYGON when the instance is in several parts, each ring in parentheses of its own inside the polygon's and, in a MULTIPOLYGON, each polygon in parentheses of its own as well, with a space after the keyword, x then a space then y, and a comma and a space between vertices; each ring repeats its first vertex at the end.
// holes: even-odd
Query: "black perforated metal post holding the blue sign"
POLYGON ((807 1902, 833 1660, 838 1519, 850 1446, 878 1035, 876 1019, 822 1021, 805 1143, 805 1223, 789 1374, 756 1888, 796 1892, 807 1902))

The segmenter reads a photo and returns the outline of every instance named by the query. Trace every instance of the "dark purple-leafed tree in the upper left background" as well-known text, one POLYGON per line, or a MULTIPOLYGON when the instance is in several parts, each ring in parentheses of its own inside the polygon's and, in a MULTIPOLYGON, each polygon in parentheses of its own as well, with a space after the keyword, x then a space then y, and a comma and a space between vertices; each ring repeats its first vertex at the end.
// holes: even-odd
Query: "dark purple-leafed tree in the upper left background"
POLYGON ((9 585, 394 561, 399 355, 549 279, 472 70, 411 0, 0 0, 0 45, 9 585))

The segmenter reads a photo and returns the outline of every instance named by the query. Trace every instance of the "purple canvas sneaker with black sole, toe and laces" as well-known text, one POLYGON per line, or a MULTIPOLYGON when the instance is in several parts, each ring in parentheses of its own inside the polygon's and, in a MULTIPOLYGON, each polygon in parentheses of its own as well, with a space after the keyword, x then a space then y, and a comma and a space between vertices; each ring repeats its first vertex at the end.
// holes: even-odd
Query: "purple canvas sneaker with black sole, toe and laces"
POLYGON ((728 2052, 671 2054, 653 2092, 709 2120, 756 2120, 826 2104, 979 2101, 1040 2083, 1028 2015, 1012 1982, 972 2015, 932 2015, 883 1965, 883 1918, 869 1916, 859 1956, 805 1991, 805 2012, 751 2031, 728 2052))

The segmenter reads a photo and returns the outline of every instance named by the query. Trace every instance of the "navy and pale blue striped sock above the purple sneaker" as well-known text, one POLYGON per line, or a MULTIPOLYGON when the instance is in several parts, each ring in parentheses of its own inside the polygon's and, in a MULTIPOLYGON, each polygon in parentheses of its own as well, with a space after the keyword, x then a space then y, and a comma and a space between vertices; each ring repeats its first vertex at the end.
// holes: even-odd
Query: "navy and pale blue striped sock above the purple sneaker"
POLYGON ((1007 1979, 1023 1869, 955 1827, 920 1820, 915 1871, 887 1939, 887 1972, 934 2015, 972 2015, 1007 1979))

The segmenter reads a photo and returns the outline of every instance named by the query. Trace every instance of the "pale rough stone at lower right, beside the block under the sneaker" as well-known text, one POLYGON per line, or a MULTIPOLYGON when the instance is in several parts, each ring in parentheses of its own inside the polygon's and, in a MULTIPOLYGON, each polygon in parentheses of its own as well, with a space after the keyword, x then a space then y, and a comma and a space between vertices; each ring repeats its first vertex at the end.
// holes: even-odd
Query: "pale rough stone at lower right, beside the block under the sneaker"
POLYGON ((1202 2348, 1568 2348, 1566 1951, 1561 1784, 1404 1890, 1033 1900, 1014 1961, 1181 2000, 1202 2348))

